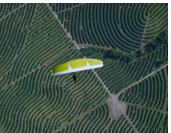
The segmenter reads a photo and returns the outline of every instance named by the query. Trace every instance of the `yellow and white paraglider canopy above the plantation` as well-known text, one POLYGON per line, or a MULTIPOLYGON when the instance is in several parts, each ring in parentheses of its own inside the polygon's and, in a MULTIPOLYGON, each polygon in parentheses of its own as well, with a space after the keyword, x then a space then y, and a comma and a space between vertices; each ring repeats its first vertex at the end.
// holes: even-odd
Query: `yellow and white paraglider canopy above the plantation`
POLYGON ((76 59, 60 64, 51 70, 52 75, 62 75, 78 71, 84 71, 103 66, 103 62, 97 59, 76 59))

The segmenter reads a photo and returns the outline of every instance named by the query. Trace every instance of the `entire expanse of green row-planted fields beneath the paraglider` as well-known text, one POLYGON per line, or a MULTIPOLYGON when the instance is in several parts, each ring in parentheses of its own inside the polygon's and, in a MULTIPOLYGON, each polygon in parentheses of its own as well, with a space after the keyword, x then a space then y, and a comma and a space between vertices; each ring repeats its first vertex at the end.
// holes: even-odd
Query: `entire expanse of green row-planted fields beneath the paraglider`
POLYGON ((0 132, 166 133, 168 45, 146 45, 167 33, 167 6, 0 4, 0 132), (76 84, 51 75, 87 46, 102 68, 75 73, 76 84), (112 48, 144 53, 127 62, 105 57, 112 48))

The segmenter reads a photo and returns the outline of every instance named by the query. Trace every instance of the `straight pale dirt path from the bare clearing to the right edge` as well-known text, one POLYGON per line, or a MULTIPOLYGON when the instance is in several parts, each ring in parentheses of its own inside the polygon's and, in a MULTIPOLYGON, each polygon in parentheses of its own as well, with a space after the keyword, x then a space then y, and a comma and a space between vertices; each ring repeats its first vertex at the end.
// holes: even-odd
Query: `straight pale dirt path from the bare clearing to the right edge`
POLYGON ((129 88, 131 88, 131 87, 135 86, 136 84, 138 84, 138 83, 142 82, 142 81, 143 81, 143 80, 145 80, 146 78, 148 78, 148 77, 150 77, 150 76, 154 75, 155 73, 157 73, 157 72, 158 72, 158 71, 160 71, 161 69, 165 68, 166 66, 168 66, 168 64, 166 64, 166 65, 164 65, 164 66, 162 66, 162 67, 158 68, 157 70, 155 70, 155 71, 153 71, 153 72, 149 73, 147 76, 145 76, 144 78, 140 79, 139 81, 137 81, 137 82, 135 82, 135 83, 130 84, 130 85, 129 85, 129 86, 127 86, 126 88, 122 89, 122 90, 117 94, 117 96, 119 96, 121 93, 123 93, 124 91, 128 90, 129 88))

